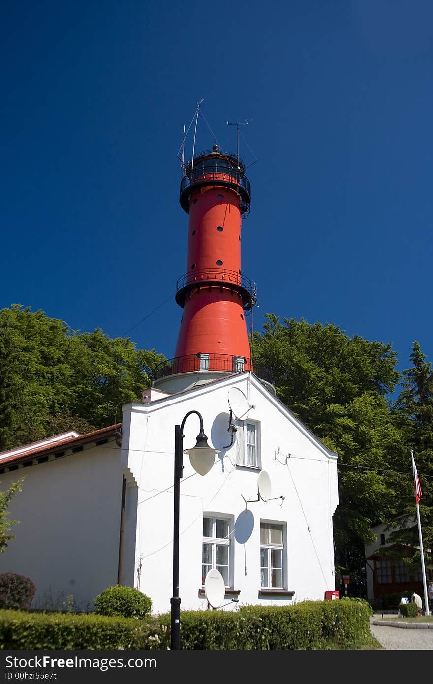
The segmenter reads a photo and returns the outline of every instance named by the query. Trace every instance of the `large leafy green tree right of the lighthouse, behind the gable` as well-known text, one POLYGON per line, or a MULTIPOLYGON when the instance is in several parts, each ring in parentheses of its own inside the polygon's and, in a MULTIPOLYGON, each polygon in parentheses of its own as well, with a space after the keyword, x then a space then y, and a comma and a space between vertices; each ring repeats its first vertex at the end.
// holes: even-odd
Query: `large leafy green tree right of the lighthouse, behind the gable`
POLYGON ((347 336, 338 326, 268 314, 252 340, 254 372, 339 454, 339 506, 334 514, 336 566, 363 579, 371 526, 397 513, 402 487, 393 471, 404 431, 387 393, 399 373, 390 344, 347 336))

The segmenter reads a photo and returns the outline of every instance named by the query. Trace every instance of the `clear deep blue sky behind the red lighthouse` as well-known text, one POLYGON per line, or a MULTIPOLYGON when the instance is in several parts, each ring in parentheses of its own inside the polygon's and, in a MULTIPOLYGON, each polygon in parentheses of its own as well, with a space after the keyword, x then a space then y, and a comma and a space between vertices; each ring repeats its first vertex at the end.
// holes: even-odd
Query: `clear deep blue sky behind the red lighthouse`
MULTIPOLYGON (((176 154, 204 98, 222 148, 248 119, 258 159, 254 328, 328 321, 392 342, 400 369, 414 339, 433 360, 433 3, 18 0, 1 25, 1 306, 115 337, 174 294, 176 154)), ((180 319, 172 298, 128 334, 170 357, 180 319)))

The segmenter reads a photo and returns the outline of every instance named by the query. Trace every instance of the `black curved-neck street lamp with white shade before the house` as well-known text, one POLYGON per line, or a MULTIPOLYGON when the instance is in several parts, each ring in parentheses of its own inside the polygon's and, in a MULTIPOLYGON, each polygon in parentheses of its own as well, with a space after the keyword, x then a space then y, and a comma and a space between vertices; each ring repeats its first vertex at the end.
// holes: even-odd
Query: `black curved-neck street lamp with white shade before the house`
POLYGON ((171 648, 181 648, 181 599, 179 598, 179 484, 182 477, 182 454, 189 454, 189 461, 199 475, 209 473, 218 449, 212 449, 207 443, 207 436, 203 431, 203 419, 198 411, 189 411, 181 425, 174 426, 174 521, 173 521, 173 596, 171 648), (200 419, 200 432, 196 446, 183 451, 183 426, 187 417, 195 413, 200 419))

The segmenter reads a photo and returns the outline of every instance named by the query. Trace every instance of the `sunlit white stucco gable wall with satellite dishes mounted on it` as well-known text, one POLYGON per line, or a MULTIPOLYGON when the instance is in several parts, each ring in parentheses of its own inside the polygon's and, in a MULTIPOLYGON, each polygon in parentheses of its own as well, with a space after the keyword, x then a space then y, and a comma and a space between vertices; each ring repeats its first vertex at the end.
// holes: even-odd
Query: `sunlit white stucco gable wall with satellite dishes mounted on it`
MULTIPOLYGON (((248 515, 254 516, 250 538, 241 543, 237 531, 232 535, 233 588, 240 590, 239 603, 292 601, 287 597, 259 597, 261 520, 286 527, 285 586, 296 592, 293 601, 324 599, 324 592, 334 589, 332 514, 338 503, 337 458, 291 417, 254 376, 249 378, 248 373, 243 373, 147 405, 124 406, 122 466, 130 469, 139 487, 135 568, 142 556, 140 590, 151 597, 154 611, 170 610, 174 425, 180 424, 189 410, 201 413, 209 443, 222 451, 204 477, 195 473, 184 455, 179 551, 181 607, 207 607, 205 599, 198 595, 203 513, 228 515, 239 523, 246 509, 248 515), (235 467, 237 451, 242 448, 240 424, 235 445, 223 448, 230 442, 227 396, 233 386, 244 391, 254 406, 248 419, 260 422, 261 467, 270 475, 272 497, 283 495, 284 501, 255 501, 248 505, 244 501, 257 499, 259 471, 235 467)), ((195 445, 198 428, 198 417, 192 415, 185 423, 184 449, 195 445)), ((227 609, 234 609, 234 604, 227 609)))

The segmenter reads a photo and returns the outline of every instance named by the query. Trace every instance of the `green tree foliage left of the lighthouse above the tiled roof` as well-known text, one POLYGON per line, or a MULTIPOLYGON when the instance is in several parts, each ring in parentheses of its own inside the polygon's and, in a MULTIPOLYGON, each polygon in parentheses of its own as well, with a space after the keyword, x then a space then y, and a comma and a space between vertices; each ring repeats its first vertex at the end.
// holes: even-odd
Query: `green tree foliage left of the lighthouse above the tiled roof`
POLYGON ((0 311, 0 451, 74 429, 90 432, 141 399, 147 369, 165 358, 129 338, 79 332, 43 311, 0 311))

